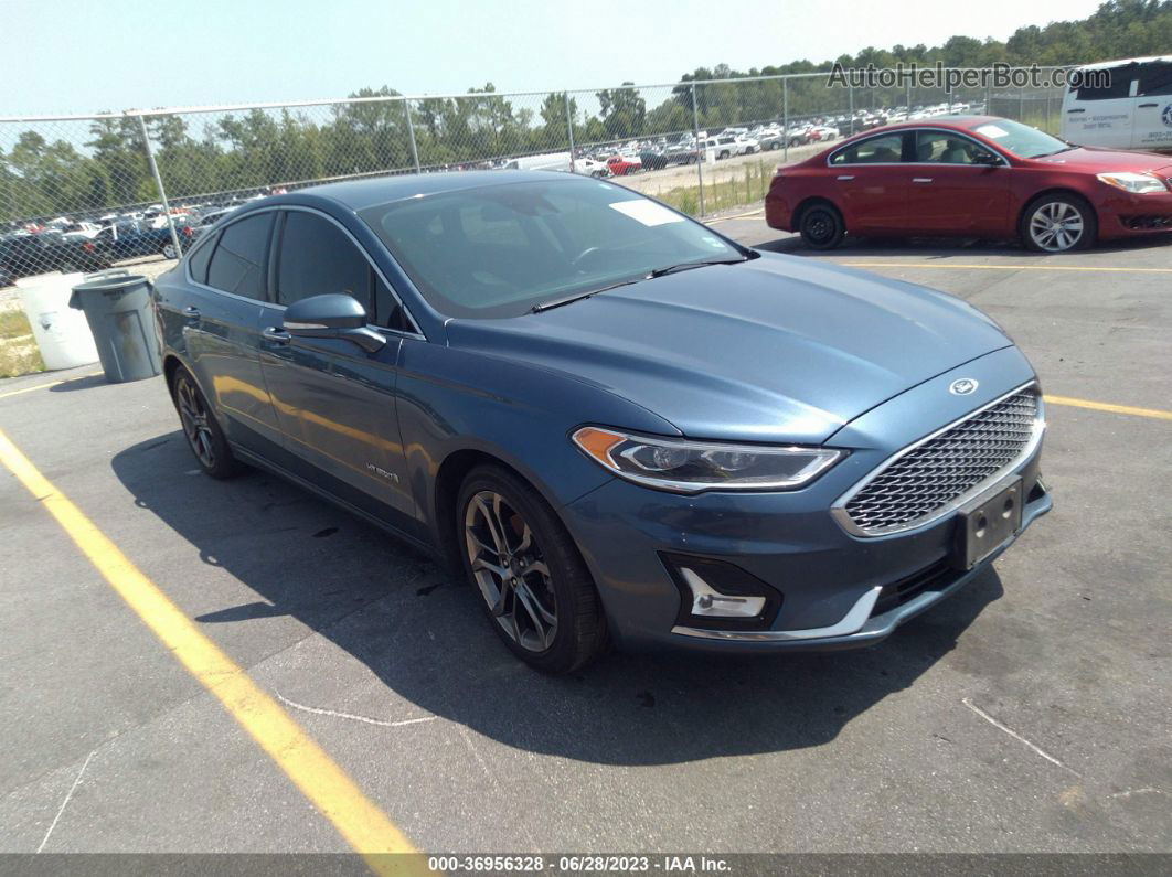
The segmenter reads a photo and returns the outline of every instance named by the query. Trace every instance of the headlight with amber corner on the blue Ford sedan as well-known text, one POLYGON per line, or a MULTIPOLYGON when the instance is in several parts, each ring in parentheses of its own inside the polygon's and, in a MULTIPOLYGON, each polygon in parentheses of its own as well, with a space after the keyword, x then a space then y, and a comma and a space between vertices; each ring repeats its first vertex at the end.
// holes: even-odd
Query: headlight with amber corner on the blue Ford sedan
POLYGON ((825 447, 763 447, 648 438, 584 426, 573 441, 628 481, 676 493, 788 491, 809 484, 845 457, 825 447))

